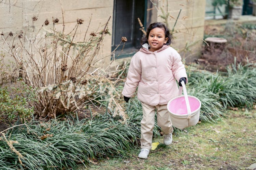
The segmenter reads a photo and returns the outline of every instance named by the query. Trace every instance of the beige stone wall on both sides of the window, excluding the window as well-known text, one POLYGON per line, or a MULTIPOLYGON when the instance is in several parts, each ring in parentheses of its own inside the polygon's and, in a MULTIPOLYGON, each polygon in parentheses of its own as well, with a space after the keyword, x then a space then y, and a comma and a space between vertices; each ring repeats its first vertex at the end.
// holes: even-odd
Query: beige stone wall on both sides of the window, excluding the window
MULTIPOLYGON (((152 9, 151 22, 163 21, 160 7, 165 11, 167 9, 170 16, 168 24, 172 29, 175 20, 181 10, 179 19, 177 20, 174 30, 173 47, 177 49, 187 62, 193 61, 194 57, 199 56, 204 29, 204 13, 205 0, 152 0, 157 4, 158 10, 152 9), (173 16, 174 18, 172 18, 173 16), (186 45, 188 48, 186 50, 186 45), (191 51, 190 51, 191 50, 191 51)), ((81 18, 84 23, 79 27, 77 32, 80 37, 77 41, 84 38, 90 18, 90 26, 87 36, 90 32, 101 28, 103 24, 113 15, 113 0, 10 0, 0 2, 0 32, 8 34, 12 31, 17 34, 20 30, 37 31, 41 28, 45 19, 50 21, 45 29, 52 28, 52 18, 58 18, 59 22, 55 24, 57 30, 62 30, 63 23, 65 25, 65 33, 74 29, 76 19, 81 18), (63 10, 63 18, 62 18, 63 10), (37 17, 36 21, 32 21, 32 17, 37 17)), ((151 3, 148 0, 148 4, 151 3)), ((153 5, 154 7, 154 5, 153 5)), ((112 31, 112 19, 109 23, 109 30, 112 31)), ((108 55, 111 52, 111 36, 108 35, 104 39, 102 55, 108 55)), ((125 60, 129 58, 125 58, 125 60)), ((121 59, 120 59, 121 60, 121 59)), ((122 59, 124 60, 124 59, 122 59)), ((105 58, 105 64, 110 62, 110 56, 105 58)))

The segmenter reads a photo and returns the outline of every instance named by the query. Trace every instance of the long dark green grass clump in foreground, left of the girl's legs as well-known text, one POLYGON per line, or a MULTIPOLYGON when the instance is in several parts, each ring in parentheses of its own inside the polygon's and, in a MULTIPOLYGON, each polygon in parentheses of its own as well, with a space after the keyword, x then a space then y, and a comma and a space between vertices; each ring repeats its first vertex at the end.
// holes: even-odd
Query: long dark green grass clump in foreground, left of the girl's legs
MULTIPOLYGON (((141 111, 126 121, 109 113, 93 119, 32 121, 0 136, 0 169, 75 169, 100 158, 127 156, 140 138, 141 111)), ((158 133, 158 131, 154 131, 158 133)))

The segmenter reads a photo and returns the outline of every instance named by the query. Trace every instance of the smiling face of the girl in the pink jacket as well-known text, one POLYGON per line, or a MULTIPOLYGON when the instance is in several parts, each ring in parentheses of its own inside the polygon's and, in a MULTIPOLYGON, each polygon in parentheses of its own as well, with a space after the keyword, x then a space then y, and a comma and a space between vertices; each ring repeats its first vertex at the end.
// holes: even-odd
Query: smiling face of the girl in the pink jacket
POLYGON ((163 44, 167 43, 168 38, 165 37, 165 30, 159 27, 152 29, 148 35, 149 51, 157 51, 162 48, 163 44))

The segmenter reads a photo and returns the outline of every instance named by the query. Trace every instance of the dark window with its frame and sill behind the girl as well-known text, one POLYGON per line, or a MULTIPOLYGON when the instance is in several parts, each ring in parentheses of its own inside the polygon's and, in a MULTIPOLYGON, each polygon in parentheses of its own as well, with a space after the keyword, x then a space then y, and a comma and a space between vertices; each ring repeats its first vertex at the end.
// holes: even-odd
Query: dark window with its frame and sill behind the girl
POLYGON ((142 32, 138 18, 143 25, 146 25, 146 7, 147 0, 114 0, 113 10, 113 33, 112 50, 114 50, 121 41, 121 37, 126 37, 127 42, 121 53, 122 46, 117 49, 115 58, 132 56, 140 49, 140 39, 142 32))

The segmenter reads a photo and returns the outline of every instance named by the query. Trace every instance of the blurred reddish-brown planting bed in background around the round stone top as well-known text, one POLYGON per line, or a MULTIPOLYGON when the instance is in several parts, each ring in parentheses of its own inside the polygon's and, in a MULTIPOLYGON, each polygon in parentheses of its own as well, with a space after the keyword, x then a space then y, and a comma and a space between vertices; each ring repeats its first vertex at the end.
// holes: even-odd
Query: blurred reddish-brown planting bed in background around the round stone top
POLYGON ((244 25, 205 26, 205 37, 225 38, 227 43, 204 43, 202 56, 196 61, 201 69, 226 71, 227 66, 234 63, 256 63, 255 29, 248 29, 244 25))

